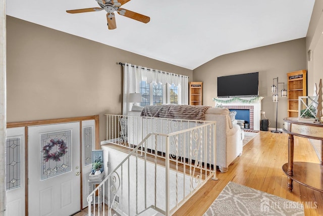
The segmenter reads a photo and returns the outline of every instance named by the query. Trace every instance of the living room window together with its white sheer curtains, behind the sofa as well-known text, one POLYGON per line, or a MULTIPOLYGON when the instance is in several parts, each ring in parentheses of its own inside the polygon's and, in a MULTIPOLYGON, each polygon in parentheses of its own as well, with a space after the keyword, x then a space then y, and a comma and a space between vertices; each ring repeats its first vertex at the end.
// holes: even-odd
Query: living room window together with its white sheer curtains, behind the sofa
POLYGON ((188 104, 188 76, 169 73, 139 65, 123 65, 122 113, 128 115, 133 103, 131 93, 140 93, 140 106, 188 104))

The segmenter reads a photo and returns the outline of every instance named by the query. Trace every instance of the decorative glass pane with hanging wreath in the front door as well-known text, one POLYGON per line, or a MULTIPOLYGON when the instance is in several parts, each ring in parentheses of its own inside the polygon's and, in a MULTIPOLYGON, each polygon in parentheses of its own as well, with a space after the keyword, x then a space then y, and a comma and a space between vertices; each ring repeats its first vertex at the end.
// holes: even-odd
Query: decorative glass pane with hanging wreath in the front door
POLYGON ((40 179, 45 180, 72 170, 72 132, 46 133, 40 136, 40 179))

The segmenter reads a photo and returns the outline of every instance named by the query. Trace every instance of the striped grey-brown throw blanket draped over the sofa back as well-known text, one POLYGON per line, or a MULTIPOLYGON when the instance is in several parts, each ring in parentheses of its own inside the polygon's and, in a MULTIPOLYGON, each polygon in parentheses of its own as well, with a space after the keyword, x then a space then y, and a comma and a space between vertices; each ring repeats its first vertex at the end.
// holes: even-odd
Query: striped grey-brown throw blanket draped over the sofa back
POLYGON ((204 120, 205 119, 204 113, 209 107, 210 106, 192 106, 192 105, 145 106, 141 111, 141 116, 204 120))

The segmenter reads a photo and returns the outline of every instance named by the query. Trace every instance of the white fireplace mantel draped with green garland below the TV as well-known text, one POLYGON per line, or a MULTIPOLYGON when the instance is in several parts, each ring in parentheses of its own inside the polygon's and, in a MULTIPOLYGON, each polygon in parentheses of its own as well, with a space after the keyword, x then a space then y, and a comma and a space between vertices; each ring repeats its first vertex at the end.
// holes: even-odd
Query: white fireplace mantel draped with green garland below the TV
POLYGON ((228 109, 249 109, 250 129, 260 130, 261 100, 263 97, 251 98, 213 98, 216 106, 227 107, 228 109))

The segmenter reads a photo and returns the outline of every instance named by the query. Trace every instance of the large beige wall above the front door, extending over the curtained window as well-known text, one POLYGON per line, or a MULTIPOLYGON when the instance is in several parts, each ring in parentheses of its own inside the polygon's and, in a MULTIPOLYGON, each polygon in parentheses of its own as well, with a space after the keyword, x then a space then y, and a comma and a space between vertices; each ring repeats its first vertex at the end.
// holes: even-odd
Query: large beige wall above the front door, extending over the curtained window
POLYGON ((128 62, 187 75, 177 67, 7 16, 7 122, 122 113, 128 62))

